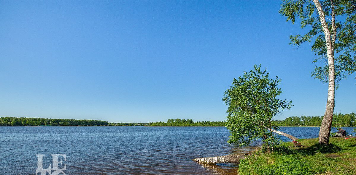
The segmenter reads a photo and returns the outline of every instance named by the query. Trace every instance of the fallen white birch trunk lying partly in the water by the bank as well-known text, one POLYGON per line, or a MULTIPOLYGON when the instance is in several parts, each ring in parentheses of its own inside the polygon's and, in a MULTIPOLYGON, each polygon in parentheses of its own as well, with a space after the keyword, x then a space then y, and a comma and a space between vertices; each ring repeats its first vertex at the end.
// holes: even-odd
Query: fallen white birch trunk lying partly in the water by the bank
POLYGON ((216 157, 204 157, 193 159, 198 163, 216 165, 218 163, 240 163, 240 159, 245 159, 248 154, 230 154, 216 157))

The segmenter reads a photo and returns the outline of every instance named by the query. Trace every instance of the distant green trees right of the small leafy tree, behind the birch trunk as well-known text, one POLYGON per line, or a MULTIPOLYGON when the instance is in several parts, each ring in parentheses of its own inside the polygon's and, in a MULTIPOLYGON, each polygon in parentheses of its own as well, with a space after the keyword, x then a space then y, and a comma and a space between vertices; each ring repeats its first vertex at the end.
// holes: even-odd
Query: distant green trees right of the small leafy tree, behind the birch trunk
MULTIPOLYGON (((272 123, 276 126, 320 126, 324 116, 293 116, 285 120, 274 120, 272 123)), ((335 113, 333 117, 333 127, 356 126, 356 114, 335 113)))

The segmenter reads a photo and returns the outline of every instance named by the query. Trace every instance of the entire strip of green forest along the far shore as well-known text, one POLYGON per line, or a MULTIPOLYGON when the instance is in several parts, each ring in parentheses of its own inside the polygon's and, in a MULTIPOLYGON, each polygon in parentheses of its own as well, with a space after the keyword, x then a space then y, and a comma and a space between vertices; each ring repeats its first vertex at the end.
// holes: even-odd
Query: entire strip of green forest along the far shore
MULTIPOLYGON (((323 116, 293 116, 285 120, 273 120, 276 126, 320 126, 323 116)), ((333 127, 355 127, 356 114, 335 113, 333 127)), ((196 121, 192 119, 168 119, 167 122, 114 123, 101 120, 43 119, 27 117, 1 117, 0 126, 224 126, 224 121, 196 121)))

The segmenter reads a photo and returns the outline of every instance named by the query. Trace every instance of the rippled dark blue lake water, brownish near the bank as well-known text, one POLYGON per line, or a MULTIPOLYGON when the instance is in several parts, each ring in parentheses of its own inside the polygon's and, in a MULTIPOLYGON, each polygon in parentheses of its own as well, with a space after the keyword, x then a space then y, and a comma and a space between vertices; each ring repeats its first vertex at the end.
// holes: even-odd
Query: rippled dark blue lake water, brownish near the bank
MULTIPOLYGON (((314 138, 319 128, 281 127, 281 131, 314 138)), ((228 136, 225 127, 0 127, 0 174, 35 174, 36 154, 46 154, 43 168, 52 162, 49 154, 66 154, 66 175, 236 174, 234 164, 200 165, 191 160, 245 153, 259 144, 229 145, 228 136)))

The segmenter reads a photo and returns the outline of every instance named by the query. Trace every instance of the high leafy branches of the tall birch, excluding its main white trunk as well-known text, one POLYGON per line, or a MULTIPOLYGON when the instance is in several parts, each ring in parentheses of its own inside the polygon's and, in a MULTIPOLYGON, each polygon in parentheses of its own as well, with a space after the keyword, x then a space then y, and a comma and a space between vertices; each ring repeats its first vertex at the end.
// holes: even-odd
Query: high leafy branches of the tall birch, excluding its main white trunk
MULTIPOLYGON (((335 52, 337 88, 337 83, 342 78, 356 71, 356 0, 324 0, 320 1, 320 4, 331 31, 331 39, 334 41, 333 52, 335 52)), ((325 34, 313 1, 283 0, 279 12, 293 24, 299 17, 301 27, 309 30, 305 34, 290 35, 290 44, 299 47, 304 42, 313 43, 312 50, 318 55, 313 62, 320 64, 315 66, 312 76, 327 83, 329 65, 325 47, 325 34)))

